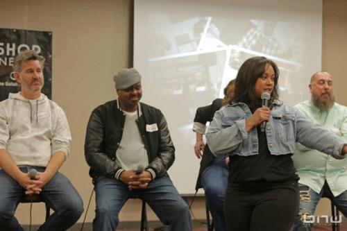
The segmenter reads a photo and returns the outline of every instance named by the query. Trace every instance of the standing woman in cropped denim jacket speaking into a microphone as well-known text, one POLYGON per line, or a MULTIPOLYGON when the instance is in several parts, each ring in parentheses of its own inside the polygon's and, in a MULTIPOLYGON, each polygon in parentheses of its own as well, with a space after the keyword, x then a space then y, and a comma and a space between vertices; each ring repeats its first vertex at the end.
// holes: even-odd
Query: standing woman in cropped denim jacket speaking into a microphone
POLYGON ((298 213, 295 142, 338 159, 347 145, 278 100, 278 67, 264 57, 240 67, 232 102, 214 114, 206 135, 214 155, 230 155, 224 201, 227 230, 288 231, 298 213), (269 92, 269 106, 261 95, 269 92), (266 122, 264 131, 261 123, 266 122))

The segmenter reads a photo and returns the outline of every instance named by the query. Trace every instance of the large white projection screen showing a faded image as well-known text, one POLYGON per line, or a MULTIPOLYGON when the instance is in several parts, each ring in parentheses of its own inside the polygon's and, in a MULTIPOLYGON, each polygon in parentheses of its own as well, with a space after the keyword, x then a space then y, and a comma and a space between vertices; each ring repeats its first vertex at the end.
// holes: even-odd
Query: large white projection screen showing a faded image
MULTIPOLYGON (((247 2, 253 4, 233 0, 220 6, 179 1, 180 8, 173 1, 165 6, 162 1, 135 1, 135 10, 142 6, 143 12, 135 17, 134 66, 144 77, 144 103, 160 108, 167 118, 176 146, 176 164, 169 171, 174 179, 175 171, 191 168, 193 162, 198 168, 192 132, 196 108, 223 98, 224 87, 246 59, 265 56, 276 62, 285 103, 309 98, 308 81, 321 68, 321 40, 316 39, 321 12, 307 14, 310 3, 301 3, 306 11, 295 12, 298 6, 292 1, 281 1, 283 8, 266 8, 276 2, 267 1, 261 6, 251 0, 247 2)), ((185 180, 185 188, 194 181, 185 180)))

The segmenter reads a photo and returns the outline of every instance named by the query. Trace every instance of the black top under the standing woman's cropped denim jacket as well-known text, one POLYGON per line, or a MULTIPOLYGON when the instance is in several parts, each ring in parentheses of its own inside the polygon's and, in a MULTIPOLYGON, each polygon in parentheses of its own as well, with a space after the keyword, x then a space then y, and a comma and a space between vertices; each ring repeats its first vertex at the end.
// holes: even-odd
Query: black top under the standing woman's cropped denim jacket
POLYGON ((259 154, 232 155, 229 164, 229 182, 233 185, 262 185, 264 187, 287 180, 298 180, 291 155, 271 155, 266 133, 257 127, 259 154))

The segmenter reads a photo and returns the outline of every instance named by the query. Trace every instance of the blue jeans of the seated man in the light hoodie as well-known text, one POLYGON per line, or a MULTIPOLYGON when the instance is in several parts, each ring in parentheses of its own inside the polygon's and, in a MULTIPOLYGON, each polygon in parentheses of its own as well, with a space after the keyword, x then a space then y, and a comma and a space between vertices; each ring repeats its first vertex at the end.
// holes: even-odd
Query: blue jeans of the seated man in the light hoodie
MULTIPOLYGON (((27 173, 30 169, 43 172, 45 168, 22 166, 19 169, 27 173)), ((24 196, 25 189, 3 170, 0 170, 0 185, 1 230, 24 231, 14 215, 19 200, 24 196)), ((83 201, 81 197, 74 186, 71 185, 71 182, 59 172, 42 187, 41 195, 49 207, 54 210, 54 213, 41 225, 40 231, 67 230, 76 223, 83 213, 83 201)))

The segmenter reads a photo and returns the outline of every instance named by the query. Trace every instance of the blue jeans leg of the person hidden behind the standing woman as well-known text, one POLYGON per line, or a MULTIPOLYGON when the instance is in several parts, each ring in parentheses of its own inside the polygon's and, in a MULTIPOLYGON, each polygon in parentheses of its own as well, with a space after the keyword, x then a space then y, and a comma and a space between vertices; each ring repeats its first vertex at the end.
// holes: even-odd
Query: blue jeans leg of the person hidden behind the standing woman
POLYGON ((214 229, 217 231, 226 230, 223 203, 226 198, 229 170, 224 159, 224 156, 215 157, 212 164, 201 175, 201 184, 212 214, 214 229))

